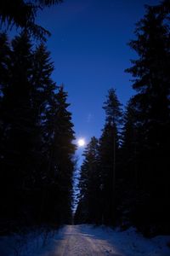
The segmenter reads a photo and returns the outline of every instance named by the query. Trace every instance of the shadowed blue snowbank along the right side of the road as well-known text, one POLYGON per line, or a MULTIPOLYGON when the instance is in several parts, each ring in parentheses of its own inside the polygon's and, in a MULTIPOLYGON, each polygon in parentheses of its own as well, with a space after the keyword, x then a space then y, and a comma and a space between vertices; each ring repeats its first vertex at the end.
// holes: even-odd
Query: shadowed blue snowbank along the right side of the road
POLYGON ((108 241, 123 256, 170 256, 170 247, 167 247, 170 236, 156 236, 148 239, 139 234, 135 228, 121 231, 105 226, 92 228, 91 225, 81 225, 81 230, 108 241))

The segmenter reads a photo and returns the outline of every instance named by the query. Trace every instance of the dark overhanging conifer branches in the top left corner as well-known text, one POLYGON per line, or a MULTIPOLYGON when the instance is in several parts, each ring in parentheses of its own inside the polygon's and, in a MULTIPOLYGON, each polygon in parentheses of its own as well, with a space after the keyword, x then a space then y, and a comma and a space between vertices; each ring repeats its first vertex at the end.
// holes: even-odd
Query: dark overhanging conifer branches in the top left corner
POLYGON ((22 31, 28 32, 37 39, 46 40, 50 33, 35 22, 37 11, 54 4, 62 3, 62 0, 2 0, 0 2, 1 26, 8 24, 7 28, 14 25, 20 27, 22 31))

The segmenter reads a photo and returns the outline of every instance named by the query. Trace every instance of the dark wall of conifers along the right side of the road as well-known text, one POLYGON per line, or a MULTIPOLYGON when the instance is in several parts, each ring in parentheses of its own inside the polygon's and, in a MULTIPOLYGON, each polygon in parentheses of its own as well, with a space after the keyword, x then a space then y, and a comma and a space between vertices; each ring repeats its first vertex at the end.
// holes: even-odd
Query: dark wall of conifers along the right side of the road
POLYGON ((170 2, 146 7, 127 69, 136 94, 125 111, 115 90, 104 103, 105 126, 84 151, 79 223, 136 226, 146 236, 170 232, 170 2))

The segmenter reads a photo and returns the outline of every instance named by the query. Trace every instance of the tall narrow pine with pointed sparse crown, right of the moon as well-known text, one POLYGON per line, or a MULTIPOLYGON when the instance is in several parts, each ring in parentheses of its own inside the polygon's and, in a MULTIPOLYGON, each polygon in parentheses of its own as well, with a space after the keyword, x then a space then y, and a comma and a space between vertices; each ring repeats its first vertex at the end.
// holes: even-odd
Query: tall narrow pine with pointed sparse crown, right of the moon
POLYGON ((121 103, 111 89, 104 102, 105 127, 99 140, 99 169, 102 186, 102 222, 116 223, 116 178, 119 163, 119 129, 122 123, 121 103))

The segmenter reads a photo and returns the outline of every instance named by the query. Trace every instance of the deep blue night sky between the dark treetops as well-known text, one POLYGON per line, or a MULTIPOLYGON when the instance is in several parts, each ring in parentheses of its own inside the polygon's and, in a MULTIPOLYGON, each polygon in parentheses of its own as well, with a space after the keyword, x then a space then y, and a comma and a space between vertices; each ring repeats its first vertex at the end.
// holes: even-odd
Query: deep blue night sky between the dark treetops
POLYGON ((64 83, 68 91, 77 138, 85 137, 88 142, 100 136, 105 120, 102 105, 111 87, 124 105, 133 94, 131 77, 124 70, 136 56, 127 43, 134 38, 144 4, 156 3, 65 0, 38 14, 37 23, 52 33, 48 49, 54 61, 53 79, 64 83))

